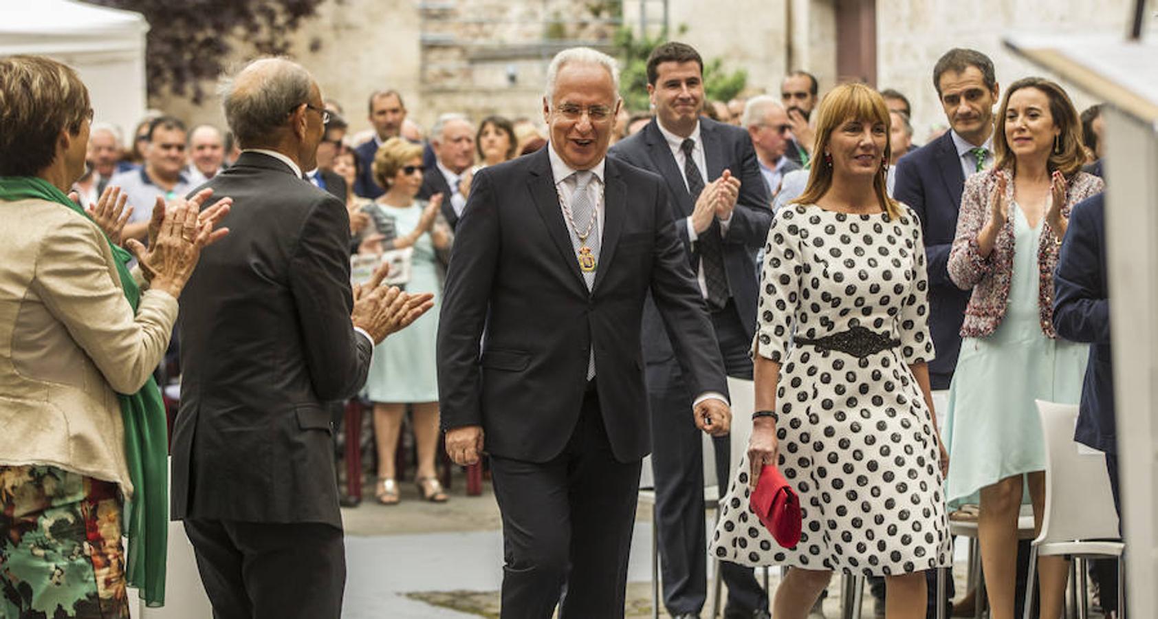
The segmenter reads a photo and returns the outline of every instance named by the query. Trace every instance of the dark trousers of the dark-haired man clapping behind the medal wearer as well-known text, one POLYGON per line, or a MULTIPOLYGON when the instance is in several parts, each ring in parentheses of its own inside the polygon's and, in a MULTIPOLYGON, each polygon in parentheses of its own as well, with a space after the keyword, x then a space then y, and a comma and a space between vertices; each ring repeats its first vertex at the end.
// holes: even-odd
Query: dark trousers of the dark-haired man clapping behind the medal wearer
MULTIPOLYGON (((748 340, 735 305, 728 301, 712 313, 716 338, 728 376, 752 378, 748 340)), ((708 597, 708 554, 704 526, 703 438, 691 417, 698 394, 687 383, 673 358, 647 366, 648 403, 652 410, 652 469, 655 478, 655 523, 659 538, 664 605, 672 614, 697 613, 708 597)), ((716 476, 721 489, 731 482, 730 438, 712 440, 716 476)), ((752 568, 720 563, 727 584, 727 609, 734 613, 768 610, 768 595, 752 568)))

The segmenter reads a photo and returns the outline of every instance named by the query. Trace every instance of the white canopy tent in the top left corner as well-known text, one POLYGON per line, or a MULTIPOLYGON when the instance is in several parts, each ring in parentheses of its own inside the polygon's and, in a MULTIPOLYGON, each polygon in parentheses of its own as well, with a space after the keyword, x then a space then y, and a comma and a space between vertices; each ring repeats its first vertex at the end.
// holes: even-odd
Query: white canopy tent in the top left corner
POLYGON ((75 68, 96 119, 132 139, 146 108, 145 17, 72 0, 0 0, 0 56, 47 56, 75 68))

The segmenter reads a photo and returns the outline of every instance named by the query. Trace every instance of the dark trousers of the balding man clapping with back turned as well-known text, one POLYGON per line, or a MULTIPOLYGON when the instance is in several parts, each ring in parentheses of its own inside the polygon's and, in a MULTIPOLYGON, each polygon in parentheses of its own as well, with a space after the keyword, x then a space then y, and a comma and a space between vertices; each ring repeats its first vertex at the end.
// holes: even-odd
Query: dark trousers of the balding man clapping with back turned
POLYGON ((321 523, 185 519, 214 619, 338 619, 342 530, 321 523))

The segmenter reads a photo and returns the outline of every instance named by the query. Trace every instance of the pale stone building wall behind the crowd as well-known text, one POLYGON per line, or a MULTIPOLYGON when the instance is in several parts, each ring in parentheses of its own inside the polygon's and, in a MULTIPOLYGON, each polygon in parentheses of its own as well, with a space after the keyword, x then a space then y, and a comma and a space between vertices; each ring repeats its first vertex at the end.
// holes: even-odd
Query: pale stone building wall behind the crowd
MULTIPOLYGON (((626 23, 637 24, 639 3, 652 20, 661 0, 624 0, 626 23)), ((933 64, 952 46, 988 53, 997 78, 1009 83, 1040 73, 1002 44, 1019 32, 1123 32, 1133 0, 976 0, 963 12, 951 0, 878 0, 878 86, 896 88, 913 101, 916 139, 923 141, 945 117, 931 83, 933 64)), ((368 128, 371 92, 394 88, 411 117, 430 125, 445 111, 476 118, 503 112, 541 117, 547 63, 558 49, 607 43, 614 26, 595 19, 607 0, 329 0, 321 15, 293 35, 292 54, 317 77, 325 95, 342 102, 352 132, 368 128), (310 43, 321 41, 318 51, 310 43), (424 67, 425 66, 425 71, 424 67)), ((790 68, 807 68, 821 89, 836 74, 836 15, 833 0, 669 0, 669 24, 705 59, 748 72, 750 94, 778 93, 790 68), (791 14, 792 24, 787 26, 791 14), (791 54, 791 58, 790 58, 791 54), (792 66, 789 66, 789 65, 792 66)), ((599 14, 607 17, 606 10, 599 14)), ((251 56, 240 45, 234 60, 251 56)), ((1094 102, 1071 89, 1079 108, 1094 102)), ((190 123, 222 123, 215 100, 151 100, 190 123)))

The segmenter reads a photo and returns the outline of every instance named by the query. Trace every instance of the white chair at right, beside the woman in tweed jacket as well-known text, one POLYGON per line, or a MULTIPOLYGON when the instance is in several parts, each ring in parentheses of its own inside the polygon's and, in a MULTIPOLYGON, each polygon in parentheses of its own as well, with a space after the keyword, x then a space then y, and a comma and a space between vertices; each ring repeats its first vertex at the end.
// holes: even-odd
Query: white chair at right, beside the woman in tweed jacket
MULTIPOLYGON (((1122 551, 1126 545, 1121 541, 1099 541, 1119 539, 1117 514, 1114 511, 1105 456, 1083 453, 1073 440, 1077 406, 1038 400, 1038 413, 1046 435, 1046 514, 1041 534, 1033 540, 1029 555, 1025 619, 1031 617, 1029 600, 1033 599, 1036 582, 1038 558, 1058 555, 1116 560, 1117 616, 1124 617, 1122 551)), ((1085 590, 1078 591, 1078 595, 1082 596, 1079 612, 1085 619, 1085 590)))

